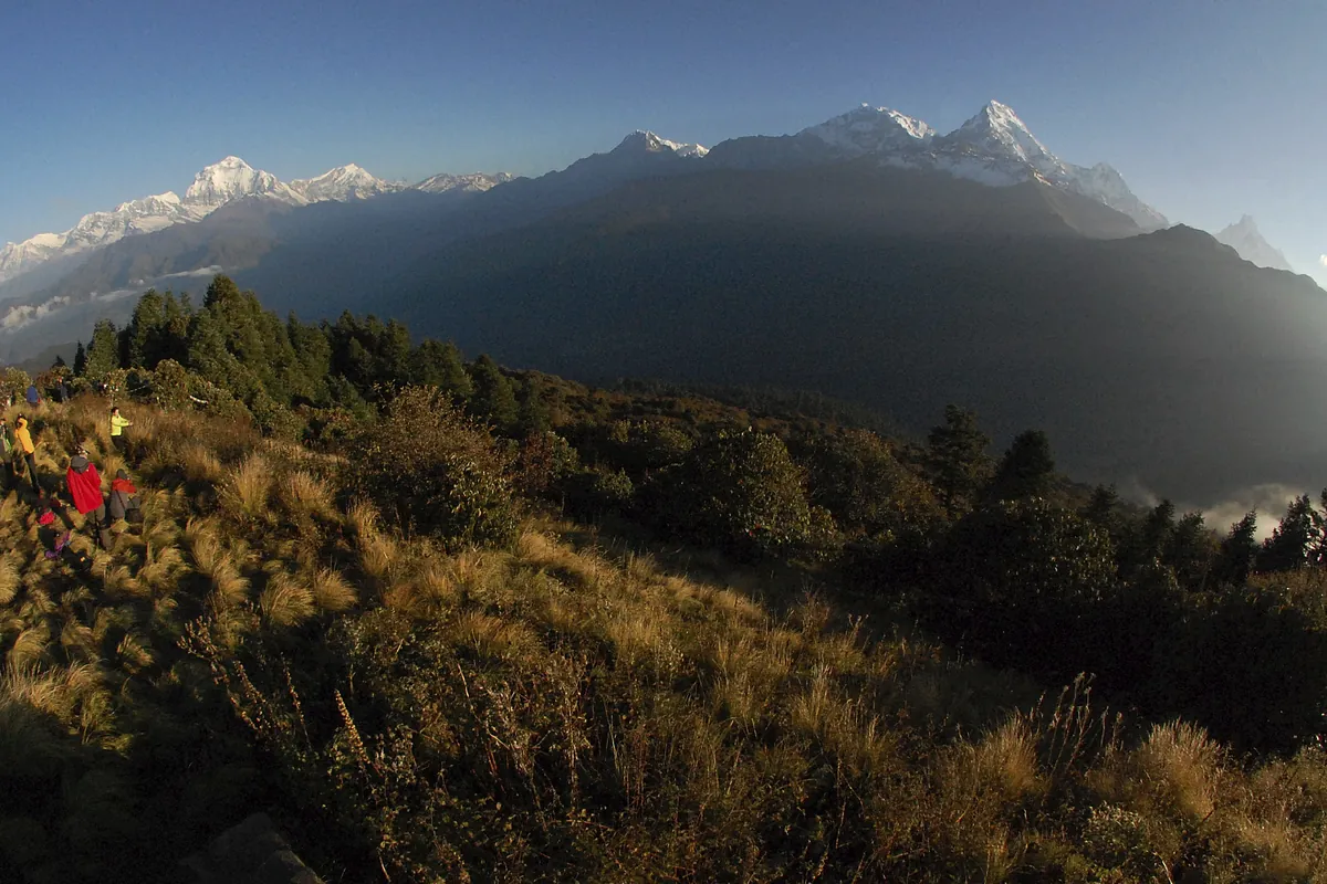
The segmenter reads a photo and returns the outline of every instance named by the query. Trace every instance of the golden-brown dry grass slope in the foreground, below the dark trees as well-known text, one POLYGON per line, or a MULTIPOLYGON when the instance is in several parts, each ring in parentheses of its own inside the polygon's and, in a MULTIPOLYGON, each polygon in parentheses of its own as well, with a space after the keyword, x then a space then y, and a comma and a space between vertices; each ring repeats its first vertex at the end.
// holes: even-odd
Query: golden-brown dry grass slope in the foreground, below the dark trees
MULTIPOLYGON (((174 880, 256 808, 328 880, 1323 873, 1316 753, 1123 738, 832 591, 547 517, 447 555, 334 457, 127 411, 147 518, 106 554, 72 514, 86 573, 0 501, 0 880, 174 880)), ((114 474, 104 415, 41 416, 48 477, 76 440, 114 474)))

